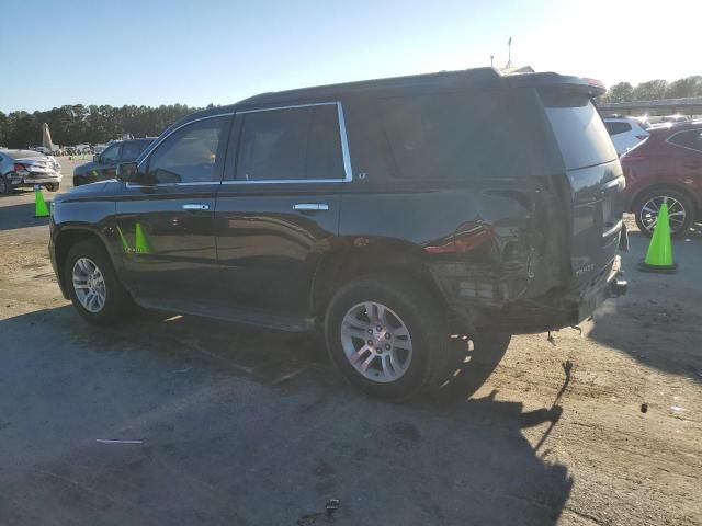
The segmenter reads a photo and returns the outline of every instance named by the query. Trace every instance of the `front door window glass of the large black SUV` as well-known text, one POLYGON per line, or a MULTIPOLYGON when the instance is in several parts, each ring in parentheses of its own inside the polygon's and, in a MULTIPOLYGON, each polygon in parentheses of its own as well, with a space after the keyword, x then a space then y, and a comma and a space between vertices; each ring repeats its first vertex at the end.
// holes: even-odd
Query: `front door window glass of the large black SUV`
POLYGON ((207 118, 173 133, 149 159, 149 182, 201 183, 218 179, 215 163, 226 121, 207 118))

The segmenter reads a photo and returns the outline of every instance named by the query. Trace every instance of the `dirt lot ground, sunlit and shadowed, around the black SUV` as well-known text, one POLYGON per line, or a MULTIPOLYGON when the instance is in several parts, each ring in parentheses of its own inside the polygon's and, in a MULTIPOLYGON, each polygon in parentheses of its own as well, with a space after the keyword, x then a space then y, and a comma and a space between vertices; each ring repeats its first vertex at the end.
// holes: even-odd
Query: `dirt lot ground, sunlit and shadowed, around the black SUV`
POLYGON ((314 338, 87 325, 32 216, 31 192, 0 197, 1 525, 702 524, 699 232, 672 276, 635 270, 633 232, 630 294, 582 335, 516 336, 485 382, 474 356, 441 396, 387 404, 314 338))

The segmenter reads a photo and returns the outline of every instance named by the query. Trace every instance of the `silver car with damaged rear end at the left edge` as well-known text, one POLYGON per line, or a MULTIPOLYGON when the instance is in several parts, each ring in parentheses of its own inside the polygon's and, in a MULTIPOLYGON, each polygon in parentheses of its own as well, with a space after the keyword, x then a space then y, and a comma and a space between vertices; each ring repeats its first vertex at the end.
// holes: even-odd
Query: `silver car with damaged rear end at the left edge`
POLYGON ((35 184, 56 192, 63 179, 60 170, 56 159, 38 151, 0 149, 0 194, 35 184))

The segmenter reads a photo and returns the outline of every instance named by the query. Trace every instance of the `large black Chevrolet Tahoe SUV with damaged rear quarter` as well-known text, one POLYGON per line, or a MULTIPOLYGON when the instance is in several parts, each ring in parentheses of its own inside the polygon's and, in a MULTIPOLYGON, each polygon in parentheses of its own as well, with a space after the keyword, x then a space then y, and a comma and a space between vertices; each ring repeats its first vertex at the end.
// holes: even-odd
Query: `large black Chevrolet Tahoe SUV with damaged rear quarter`
POLYGON ((317 330, 353 385, 416 395, 449 334, 573 325, 625 290, 602 92, 475 69, 190 115, 117 181, 54 199, 58 282, 97 323, 137 304, 317 330))

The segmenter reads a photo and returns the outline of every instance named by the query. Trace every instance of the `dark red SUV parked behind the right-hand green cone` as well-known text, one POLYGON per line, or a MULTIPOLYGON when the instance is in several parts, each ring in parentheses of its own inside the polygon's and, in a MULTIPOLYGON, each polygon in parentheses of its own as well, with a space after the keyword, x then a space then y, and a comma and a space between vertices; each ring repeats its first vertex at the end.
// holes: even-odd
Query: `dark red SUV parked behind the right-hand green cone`
POLYGON ((702 218, 702 121, 650 128, 647 139, 621 157, 627 208, 650 235, 668 203, 670 230, 683 235, 702 218))

